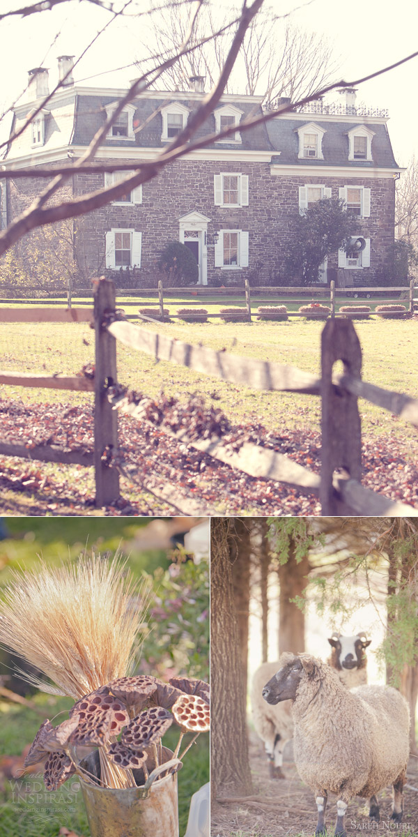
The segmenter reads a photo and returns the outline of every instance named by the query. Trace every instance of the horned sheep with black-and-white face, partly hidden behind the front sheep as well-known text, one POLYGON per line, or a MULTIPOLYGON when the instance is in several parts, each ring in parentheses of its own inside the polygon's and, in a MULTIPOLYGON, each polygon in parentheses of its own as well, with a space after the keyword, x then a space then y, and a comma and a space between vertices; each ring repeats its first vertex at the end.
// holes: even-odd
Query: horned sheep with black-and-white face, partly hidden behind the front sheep
MULTIPOLYGON (((339 679, 347 688, 360 686, 367 682, 366 655, 364 650, 370 645, 363 633, 354 637, 333 634, 328 640, 333 646, 329 665, 338 671, 339 679)), ((251 706, 252 720, 257 736, 264 742, 267 753, 270 777, 285 778, 283 751, 288 741, 293 738, 293 720, 290 702, 284 701, 277 706, 266 706, 263 701, 263 686, 278 670, 278 662, 263 663, 252 679, 251 706)))

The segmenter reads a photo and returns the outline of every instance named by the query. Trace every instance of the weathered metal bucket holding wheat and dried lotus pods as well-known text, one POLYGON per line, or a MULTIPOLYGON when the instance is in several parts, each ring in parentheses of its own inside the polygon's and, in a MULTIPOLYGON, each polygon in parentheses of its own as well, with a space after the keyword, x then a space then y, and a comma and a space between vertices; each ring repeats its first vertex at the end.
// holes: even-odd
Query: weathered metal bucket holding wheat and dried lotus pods
MULTIPOLYGON (((138 788, 100 788, 80 778, 91 837, 179 837, 177 774, 161 777, 177 768, 171 750, 162 747, 163 763, 155 767, 147 760, 150 775, 138 788)), ((99 778, 99 751, 80 762, 80 767, 99 778)), ((134 770, 139 782, 142 771, 134 770)))

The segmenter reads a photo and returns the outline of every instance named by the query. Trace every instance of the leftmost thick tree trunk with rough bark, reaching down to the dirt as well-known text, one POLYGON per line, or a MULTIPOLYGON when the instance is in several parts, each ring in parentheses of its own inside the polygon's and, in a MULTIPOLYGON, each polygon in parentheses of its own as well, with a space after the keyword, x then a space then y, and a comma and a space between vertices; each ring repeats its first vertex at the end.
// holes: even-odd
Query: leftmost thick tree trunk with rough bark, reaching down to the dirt
POLYGON ((227 518, 211 521, 212 798, 252 793, 229 527, 227 518))

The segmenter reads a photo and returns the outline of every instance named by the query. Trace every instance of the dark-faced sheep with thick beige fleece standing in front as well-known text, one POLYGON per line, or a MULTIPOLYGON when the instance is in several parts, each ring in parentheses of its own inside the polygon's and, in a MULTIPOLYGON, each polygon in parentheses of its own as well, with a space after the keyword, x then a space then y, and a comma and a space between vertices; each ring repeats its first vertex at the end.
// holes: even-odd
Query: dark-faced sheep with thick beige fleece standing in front
POLYGON ((336 837, 345 837, 350 799, 370 799, 370 819, 380 819, 377 793, 393 784, 391 819, 400 823, 409 756, 410 713, 390 686, 345 688, 336 671, 310 655, 285 653, 263 688, 270 706, 292 701, 293 752, 298 774, 314 792, 315 834, 326 834, 328 793, 337 794, 336 837))

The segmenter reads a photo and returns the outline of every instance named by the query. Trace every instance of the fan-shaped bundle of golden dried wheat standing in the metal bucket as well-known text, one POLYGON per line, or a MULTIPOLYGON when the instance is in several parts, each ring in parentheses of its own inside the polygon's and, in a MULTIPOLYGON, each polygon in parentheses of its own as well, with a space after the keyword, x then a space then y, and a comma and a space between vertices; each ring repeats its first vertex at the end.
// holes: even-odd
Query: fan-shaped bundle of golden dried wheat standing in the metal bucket
MULTIPOLYGON (((130 674, 141 644, 147 594, 135 590, 125 563, 99 555, 38 572, 14 572, 0 605, 0 644, 38 668, 24 680, 53 695, 79 698, 130 674), (140 602, 140 605, 138 604, 140 602)), ((113 787, 132 784, 100 748, 102 774, 113 787)))

